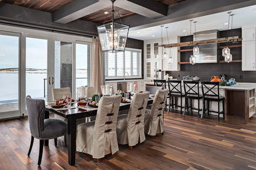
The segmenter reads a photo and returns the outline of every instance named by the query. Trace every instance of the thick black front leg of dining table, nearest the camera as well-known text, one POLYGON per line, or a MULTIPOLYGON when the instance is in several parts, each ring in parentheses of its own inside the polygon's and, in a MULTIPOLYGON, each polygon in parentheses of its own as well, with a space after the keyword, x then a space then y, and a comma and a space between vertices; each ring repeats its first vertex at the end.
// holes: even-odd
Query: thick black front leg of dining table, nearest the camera
POLYGON ((75 165, 76 120, 68 118, 68 164, 75 165))

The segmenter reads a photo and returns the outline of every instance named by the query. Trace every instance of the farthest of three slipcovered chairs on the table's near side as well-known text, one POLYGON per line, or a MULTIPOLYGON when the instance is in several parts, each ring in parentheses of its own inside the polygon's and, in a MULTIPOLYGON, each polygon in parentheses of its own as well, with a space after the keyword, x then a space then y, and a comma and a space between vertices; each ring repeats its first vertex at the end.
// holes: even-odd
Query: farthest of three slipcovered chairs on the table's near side
POLYGON ((144 128, 148 135, 155 136, 158 133, 163 135, 163 112, 168 93, 168 89, 158 90, 151 110, 146 109, 144 128))

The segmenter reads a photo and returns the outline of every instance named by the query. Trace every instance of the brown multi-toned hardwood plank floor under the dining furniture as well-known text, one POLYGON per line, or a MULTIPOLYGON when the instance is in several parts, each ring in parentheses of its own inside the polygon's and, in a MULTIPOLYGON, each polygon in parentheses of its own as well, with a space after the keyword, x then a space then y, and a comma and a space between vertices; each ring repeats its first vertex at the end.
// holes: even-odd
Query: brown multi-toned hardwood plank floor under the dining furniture
POLYGON ((129 150, 119 145, 116 156, 100 163, 77 153, 76 165, 68 165, 64 142, 49 141, 37 167, 39 140, 30 158, 30 130, 27 118, 0 122, 0 169, 256 169, 256 116, 248 124, 234 124, 217 118, 165 114, 165 132, 146 137, 144 144, 129 150))

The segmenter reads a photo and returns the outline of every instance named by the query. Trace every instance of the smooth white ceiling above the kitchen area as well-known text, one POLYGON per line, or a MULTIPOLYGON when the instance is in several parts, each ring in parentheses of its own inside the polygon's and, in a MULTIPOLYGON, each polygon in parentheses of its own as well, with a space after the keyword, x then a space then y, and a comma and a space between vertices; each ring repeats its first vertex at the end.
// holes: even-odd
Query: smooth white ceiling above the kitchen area
MULTIPOLYGON (((196 21, 196 31, 205 31, 211 29, 226 30, 228 25, 228 11, 202 16, 198 18, 191 18, 190 20, 196 21)), ((233 29, 240 28, 245 25, 256 24, 256 5, 245 7, 242 9, 232 10, 233 16, 233 29)), ((182 20, 180 22, 173 22, 165 24, 163 27, 163 38, 166 38, 166 29, 168 28, 169 37, 190 35, 190 22, 189 20, 182 20), (186 31, 184 31, 186 30, 186 31)), ((192 24, 192 33, 194 33, 194 24, 192 24)), ((148 27, 144 29, 137 29, 129 31, 129 37, 140 40, 161 39, 160 25, 155 27, 148 27)))

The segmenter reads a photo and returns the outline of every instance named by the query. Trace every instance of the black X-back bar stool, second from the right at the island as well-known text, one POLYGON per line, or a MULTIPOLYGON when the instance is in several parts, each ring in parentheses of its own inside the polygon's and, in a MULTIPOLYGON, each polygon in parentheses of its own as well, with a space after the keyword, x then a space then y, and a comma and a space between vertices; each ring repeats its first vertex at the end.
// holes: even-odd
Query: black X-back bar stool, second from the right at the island
POLYGON ((185 108, 184 114, 188 109, 192 113, 192 110, 198 110, 198 117, 200 117, 200 99, 203 99, 203 95, 200 95, 199 91, 199 81, 184 81, 184 92, 185 92, 185 108), (192 107, 192 99, 198 100, 198 108, 192 107), (188 106, 188 100, 190 100, 190 106, 188 106))

